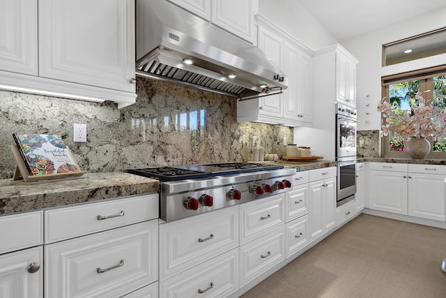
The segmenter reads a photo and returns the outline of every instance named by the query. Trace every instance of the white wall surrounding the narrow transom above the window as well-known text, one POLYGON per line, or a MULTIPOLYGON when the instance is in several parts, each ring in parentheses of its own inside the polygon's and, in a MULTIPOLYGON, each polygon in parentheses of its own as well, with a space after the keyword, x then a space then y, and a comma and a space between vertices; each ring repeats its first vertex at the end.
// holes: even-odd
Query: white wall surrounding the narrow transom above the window
POLYGON ((381 76, 446 64, 446 54, 441 54, 381 67, 382 45, 441 27, 446 27, 446 6, 420 17, 340 42, 360 61, 360 64, 357 65, 356 88, 356 107, 358 120, 361 121, 358 124, 358 130, 367 131, 380 128, 380 113, 376 112, 376 105, 381 99, 381 76), (368 100, 367 95, 369 95, 368 100), (369 107, 365 106, 366 103, 370 103, 369 107), (369 117, 366 117, 366 112, 370 112, 369 117), (365 121, 369 121, 369 124, 366 124, 365 121))

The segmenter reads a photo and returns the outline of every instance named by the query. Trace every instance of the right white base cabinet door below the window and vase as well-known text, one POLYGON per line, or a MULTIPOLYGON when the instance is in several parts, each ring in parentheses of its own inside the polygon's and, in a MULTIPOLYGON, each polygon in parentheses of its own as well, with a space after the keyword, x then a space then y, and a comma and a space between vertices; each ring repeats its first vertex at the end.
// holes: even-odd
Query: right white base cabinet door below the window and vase
POLYGON ((445 175, 409 173, 408 215, 445 221, 445 175))

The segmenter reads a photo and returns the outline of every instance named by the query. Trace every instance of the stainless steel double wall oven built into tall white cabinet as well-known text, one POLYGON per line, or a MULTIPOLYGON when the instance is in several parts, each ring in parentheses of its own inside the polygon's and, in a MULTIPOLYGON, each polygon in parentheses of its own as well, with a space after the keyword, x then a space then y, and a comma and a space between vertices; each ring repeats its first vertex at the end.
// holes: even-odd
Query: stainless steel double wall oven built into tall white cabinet
POLYGON ((354 198, 356 193, 357 112, 336 104, 337 205, 354 198))

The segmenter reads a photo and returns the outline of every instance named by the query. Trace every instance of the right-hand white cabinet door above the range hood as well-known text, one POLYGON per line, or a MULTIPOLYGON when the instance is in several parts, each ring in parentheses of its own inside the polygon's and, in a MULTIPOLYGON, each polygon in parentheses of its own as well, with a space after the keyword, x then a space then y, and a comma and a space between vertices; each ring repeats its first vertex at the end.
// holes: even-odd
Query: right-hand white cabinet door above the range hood
POLYGON ((212 6, 212 22, 226 31, 255 42, 254 15, 258 12, 259 0, 215 0, 212 6))

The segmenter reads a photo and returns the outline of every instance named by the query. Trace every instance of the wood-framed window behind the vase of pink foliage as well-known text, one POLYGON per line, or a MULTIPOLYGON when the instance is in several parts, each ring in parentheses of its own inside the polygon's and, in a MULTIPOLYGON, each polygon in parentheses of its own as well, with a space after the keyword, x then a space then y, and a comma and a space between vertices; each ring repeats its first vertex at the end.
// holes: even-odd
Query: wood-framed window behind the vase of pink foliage
MULTIPOLYGON (((427 103, 442 107, 446 112, 446 65, 402 73, 382 78, 383 97, 399 108, 401 113, 410 113, 410 103, 417 103, 415 94, 423 92, 427 103), (427 92, 425 92, 427 91, 427 92)), ((410 158, 406 153, 409 139, 395 137, 392 133, 381 140, 381 151, 387 158, 410 158)), ((426 158, 446 158, 446 140, 428 138, 431 152, 426 158)))

